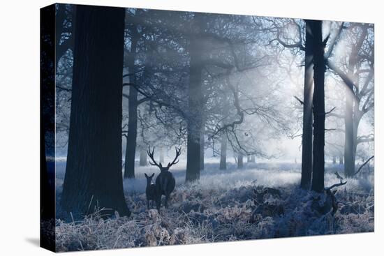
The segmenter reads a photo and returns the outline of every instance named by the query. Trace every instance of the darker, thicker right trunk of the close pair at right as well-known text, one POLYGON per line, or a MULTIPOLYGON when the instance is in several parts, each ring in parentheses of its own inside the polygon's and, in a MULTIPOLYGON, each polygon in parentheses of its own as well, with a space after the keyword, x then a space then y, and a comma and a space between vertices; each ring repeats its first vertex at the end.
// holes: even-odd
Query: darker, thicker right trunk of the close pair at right
POLYGON ((324 101, 324 45, 322 22, 307 21, 313 34, 313 180, 312 190, 324 190, 325 101, 324 101))

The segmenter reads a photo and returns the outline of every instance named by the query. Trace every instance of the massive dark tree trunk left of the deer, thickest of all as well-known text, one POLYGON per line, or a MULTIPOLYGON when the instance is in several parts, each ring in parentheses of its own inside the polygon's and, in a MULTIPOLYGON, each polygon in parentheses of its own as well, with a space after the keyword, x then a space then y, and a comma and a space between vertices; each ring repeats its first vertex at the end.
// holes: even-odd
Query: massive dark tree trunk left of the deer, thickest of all
POLYGON ((61 206, 131 212, 121 175, 124 8, 77 6, 71 128, 61 206))

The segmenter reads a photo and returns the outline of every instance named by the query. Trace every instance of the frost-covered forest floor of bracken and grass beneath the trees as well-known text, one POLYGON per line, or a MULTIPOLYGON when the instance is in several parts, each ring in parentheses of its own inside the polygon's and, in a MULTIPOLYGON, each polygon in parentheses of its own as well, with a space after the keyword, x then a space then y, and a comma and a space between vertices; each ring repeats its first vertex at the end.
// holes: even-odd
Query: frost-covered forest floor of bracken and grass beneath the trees
MULTIPOLYGON (((184 163, 185 165, 185 163, 184 163)), ((313 199, 325 195, 299 188, 300 166, 249 163, 236 170, 219 171, 218 163, 206 163, 200 181, 184 184, 185 166, 171 171, 177 186, 168 209, 147 210, 144 173, 158 174, 156 167, 138 167, 136 179, 124 181, 131 217, 103 219, 95 213, 72 221, 60 211, 59 198, 65 163, 57 164, 57 250, 96 250, 185 243, 210 243, 287 236, 347 234, 374 231, 374 176, 346 179, 336 197, 336 213, 319 213, 313 199), (262 198, 257 191, 269 189, 262 198), (256 199, 256 200, 255 200, 256 199)), ((327 165, 325 186, 339 183, 340 165, 327 165)))

